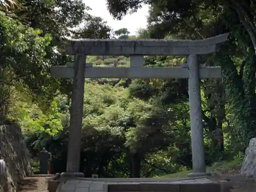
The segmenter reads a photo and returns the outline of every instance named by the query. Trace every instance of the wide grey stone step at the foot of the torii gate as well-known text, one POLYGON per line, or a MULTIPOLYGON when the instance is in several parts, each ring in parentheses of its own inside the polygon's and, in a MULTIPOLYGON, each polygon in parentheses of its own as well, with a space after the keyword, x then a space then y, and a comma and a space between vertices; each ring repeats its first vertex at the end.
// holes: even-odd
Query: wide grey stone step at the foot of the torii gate
POLYGON ((125 183, 71 179, 58 186, 58 192, 231 192, 231 182, 199 182, 194 180, 169 183, 125 183))

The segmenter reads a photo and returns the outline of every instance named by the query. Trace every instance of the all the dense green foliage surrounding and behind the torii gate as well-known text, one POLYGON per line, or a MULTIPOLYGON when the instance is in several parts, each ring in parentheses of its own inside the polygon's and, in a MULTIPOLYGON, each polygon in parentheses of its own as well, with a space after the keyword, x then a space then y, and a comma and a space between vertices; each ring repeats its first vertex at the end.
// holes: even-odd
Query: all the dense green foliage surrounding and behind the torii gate
MULTIPOLYGON (((202 80, 206 163, 232 159, 256 137, 254 1, 108 0, 116 18, 150 6, 137 36, 113 31, 82 1, 0 2, 0 122, 16 121, 36 159, 46 148, 52 172, 67 161, 71 79, 51 78, 51 66, 73 60, 63 45, 73 38, 202 39, 230 32, 226 44, 200 56, 221 66, 222 79, 202 80)), ((126 56, 89 56, 94 66, 129 66, 126 56)), ((178 66, 183 57, 147 56, 145 65, 178 66)), ((81 172, 87 177, 153 177, 190 169, 186 79, 87 79, 81 172)))

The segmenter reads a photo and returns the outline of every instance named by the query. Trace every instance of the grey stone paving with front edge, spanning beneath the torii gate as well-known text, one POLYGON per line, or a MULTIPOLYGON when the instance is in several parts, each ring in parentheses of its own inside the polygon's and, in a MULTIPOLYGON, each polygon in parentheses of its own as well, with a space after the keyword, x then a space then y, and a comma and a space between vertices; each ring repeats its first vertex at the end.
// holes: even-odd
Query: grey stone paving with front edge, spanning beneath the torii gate
POLYGON ((69 178, 57 192, 219 192, 220 184, 205 177, 197 178, 69 178))

